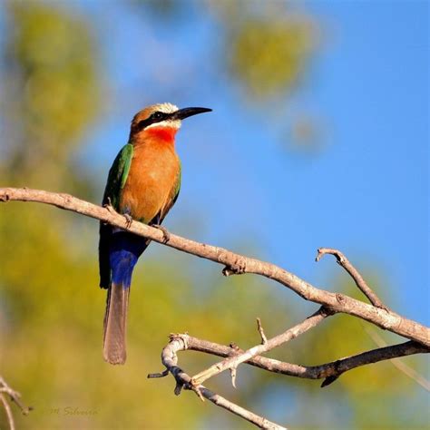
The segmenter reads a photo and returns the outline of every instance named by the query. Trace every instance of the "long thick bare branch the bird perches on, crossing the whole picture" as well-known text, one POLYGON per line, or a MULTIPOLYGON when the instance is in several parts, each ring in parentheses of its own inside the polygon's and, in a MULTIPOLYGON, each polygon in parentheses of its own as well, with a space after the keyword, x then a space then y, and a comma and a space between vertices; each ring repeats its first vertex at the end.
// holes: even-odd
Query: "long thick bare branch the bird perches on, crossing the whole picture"
MULTIPOLYGON (((122 229, 128 227, 122 215, 87 201, 76 199, 69 194, 30 189, 0 188, 0 201, 7 200, 38 201, 64 210, 72 210, 122 229)), ((165 234, 161 230, 153 229, 137 221, 133 221, 128 230, 159 243, 165 241, 165 234)), ((235 254, 228 249, 213 247, 173 234, 169 235, 169 241, 165 245, 203 259, 210 259, 220 263, 227 268, 224 270, 226 274, 254 273, 274 279, 296 292, 300 297, 318 303, 333 312, 342 312, 365 319, 377 327, 415 340, 425 345, 425 347, 430 347, 430 329, 428 327, 413 320, 403 318, 395 312, 368 305, 343 294, 332 293, 313 287, 305 280, 299 279, 297 276, 274 264, 260 261, 259 259, 250 259, 235 254)))

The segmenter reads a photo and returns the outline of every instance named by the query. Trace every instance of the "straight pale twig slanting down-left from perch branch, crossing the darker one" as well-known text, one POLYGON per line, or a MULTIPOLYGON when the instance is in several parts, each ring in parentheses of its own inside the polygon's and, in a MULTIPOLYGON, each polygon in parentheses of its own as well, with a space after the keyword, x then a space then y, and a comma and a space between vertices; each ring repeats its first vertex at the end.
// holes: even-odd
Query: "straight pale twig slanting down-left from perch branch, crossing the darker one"
POLYGON ((252 357, 259 356, 260 354, 264 354, 268 352, 270 349, 275 347, 279 347, 280 345, 288 342, 295 337, 306 333, 310 328, 317 326, 324 318, 332 315, 327 312, 325 308, 320 308, 318 311, 306 318, 303 322, 294 326, 292 328, 288 328, 284 333, 272 337, 269 340, 266 339, 266 342, 263 342, 261 345, 257 345, 256 347, 251 347, 247 351, 240 353, 239 355, 235 355, 234 357, 228 357, 225 360, 217 363, 209 368, 203 370, 191 378, 191 384, 194 386, 199 386, 206 379, 209 379, 212 376, 218 375, 224 370, 235 368, 239 366, 240 363, 248 361, 252 357))

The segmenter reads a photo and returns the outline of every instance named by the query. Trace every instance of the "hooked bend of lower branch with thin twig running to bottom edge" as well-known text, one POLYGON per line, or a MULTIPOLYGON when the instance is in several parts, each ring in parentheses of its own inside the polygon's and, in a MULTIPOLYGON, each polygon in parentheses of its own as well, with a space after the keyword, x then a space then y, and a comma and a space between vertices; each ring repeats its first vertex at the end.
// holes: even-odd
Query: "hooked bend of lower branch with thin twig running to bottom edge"
POLYGON ((171 375, 174 376, 174 378, 176 379, 176 395, 179 395, 181 392, 181 388, 178 387, 193 390, 198 396, 200 396, 201 399, 203 399, 203 397, 207 398, 214 405, 220 406, 228 410, 232 414, 238 415, 246 419, 247 421, 249 421, 249 423, 252 423, 253 425, 257 425, 260 428, 270 430, 286 430, 285 427, 276 423, 272 423, 263 416, 256 415, 249 410, 230 402, 230 400, 227 400, 226 398, 217 395, 216 393, 213 393, 205 386, 192 386, 191 376, 187 375, 181 369, 181 367, 177 366, 177 352, 188 348, 187 343, 186 341, 184 341, 184 338, 182 336, 183 335, 171 335, 171 340, 169 344, 164 347, 161 353, 162 364, 166 366, 166 369, 168 369, 169 372, 171 372, 171 375))

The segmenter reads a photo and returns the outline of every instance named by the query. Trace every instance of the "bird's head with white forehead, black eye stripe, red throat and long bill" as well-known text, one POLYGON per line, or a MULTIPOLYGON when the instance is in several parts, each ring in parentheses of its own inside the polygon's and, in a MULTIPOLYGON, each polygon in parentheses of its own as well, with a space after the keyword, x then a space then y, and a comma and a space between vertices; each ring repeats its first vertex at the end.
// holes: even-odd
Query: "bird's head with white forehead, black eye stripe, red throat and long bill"
POLYGON ((210 111, 211 109, 200 107, 179 109, 171 103, 152 104, 134 115, 130 142, 136 142, 141 137, 148 136, 173 141, 176 132, 181 128, 183 119, 210 111))

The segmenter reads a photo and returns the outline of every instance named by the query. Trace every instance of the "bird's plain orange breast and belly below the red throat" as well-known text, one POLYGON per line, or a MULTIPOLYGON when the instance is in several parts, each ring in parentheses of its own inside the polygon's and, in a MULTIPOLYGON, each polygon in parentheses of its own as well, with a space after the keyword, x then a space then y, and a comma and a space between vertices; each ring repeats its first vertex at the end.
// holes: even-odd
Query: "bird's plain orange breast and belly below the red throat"
POLYGON ((122 190, 122 211, 129 211, 135 220, 150 222, 169 204, 180 168, 173 142, 147 139, 136 144, 122 190))

